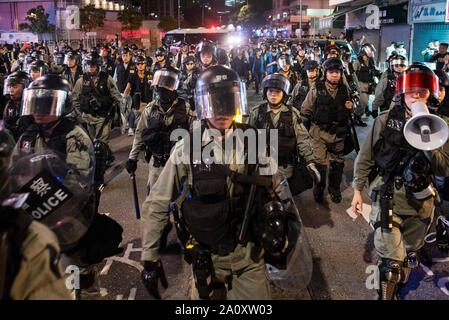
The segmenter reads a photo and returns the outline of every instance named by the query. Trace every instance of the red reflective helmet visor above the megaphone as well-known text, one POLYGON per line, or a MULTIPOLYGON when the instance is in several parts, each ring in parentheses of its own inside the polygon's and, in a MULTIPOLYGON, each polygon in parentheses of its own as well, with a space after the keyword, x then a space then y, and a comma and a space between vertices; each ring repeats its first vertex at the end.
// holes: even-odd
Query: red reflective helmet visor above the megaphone
POLYGON ((395 94, 409 92, 413 88, 429 89, 430 93, 433 94, 435 98, 438 98, 438 77, 433 73, 413 72, 402 73, 396 79, 395 94))

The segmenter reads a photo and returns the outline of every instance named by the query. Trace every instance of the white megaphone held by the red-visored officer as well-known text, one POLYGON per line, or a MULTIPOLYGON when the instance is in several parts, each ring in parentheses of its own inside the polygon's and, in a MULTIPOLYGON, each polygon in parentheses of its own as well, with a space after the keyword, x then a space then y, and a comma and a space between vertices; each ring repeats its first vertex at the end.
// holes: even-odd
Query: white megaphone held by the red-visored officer
POLYGON ((435 150, 446 143, 449 128, 440 117, 430 114, 423 102, 412 104, 412 118, 404 126, 407 142, 419 150, 435 150))

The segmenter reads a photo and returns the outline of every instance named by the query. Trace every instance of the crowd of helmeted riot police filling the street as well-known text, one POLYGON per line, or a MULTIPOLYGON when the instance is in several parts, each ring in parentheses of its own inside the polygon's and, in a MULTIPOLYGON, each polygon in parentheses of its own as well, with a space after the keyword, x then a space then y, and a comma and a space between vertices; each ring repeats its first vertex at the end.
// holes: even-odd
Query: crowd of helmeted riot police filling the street
MULTIPOLYGON (((142 205, 142 281, 149 293, 160 298, 158 282, 168 285, 159 252, 172 229, 171 212, 200 298, 269 299, 265 262, 285 267, 286 257, 304 232, 293 197, 313 186, 315 200, 323 203, 328 183, 331 200, 342 201, 345 155, 355 148, 351 126, 366 127, 364 114, 375 120, 355 161, 353 209, 360 212, 361 191, 369 185, 375 246, 381 258, 379 298, 397 298, 416 266, 435 203, 442 201, 438 193, 413 198, 410 188, 416 189, 416 183, 405 178, 397 183, 396 178, 403 176, 402 160, 419 157, 425 161, 427 169, 420 177, 429 184, 437 175, 441 187, 449 176, 447 144, 432 151, 414 149, 405 141, 402 127, 416 101, 448 119, 445 89, 449 79, 444 72, 419 63, 409 66, 397 52, 381 73, 374 55, 371 44, 364 44, 353 59, 351 52, 335 43, 325 48, 262 43, 226 52, 208 40, 194 50, 182 43, 176 54, 160 47, 155 60, 135 45, 104 45, 89 52, 64 47, 49 54, 45 46, 36 44, 10 54, 9 63, 2 66, 8 76, 1 101, 0 171, 5 178, 0 182, 0 200, 2 212, 8 214, 0 217, 0 231, 11 240, 10 251, 14 248, 22 255, 11 251, 10 261, 19 261, 11 263, 13 268, 6 270, 9 278, 0 282, 2 298, 67 298, 59 267, 61 251, 71 264, 82 267, 76 297, 83 298, 94 286, 92 266, 115 254, 117 238, 121 239, 120 227, 111 223, 116 236, 110 242, 98 240, 91 230, 93 225, 104 227, 98 222, 98 205, 105 171, 114 162, 110 132, 120 127, 122 134, 134 136, 126 170, 135 173, 141 153, 149 163, 142 205), (265 102, 248 108, 246 90, 253 82, 265 102), (192 160, 192 155, 183 152, 188 140, 172 141, 171 133, 180 128, 194 131, 195 120, 200 120, 201 148, 210 148, 215 159, 224 159, 220 140, 226 129, 278 129, 277 163, 268 164, 277 169, 264 176, 262 164, 248 161, 230 165, 176 161, 192 160), (222 136, 216 139, 205 129, 217 129, 222 136), (9 199, 10 157, 46 149, 61 154, 80 175, 94 176, 85 210, 94 212, 95 223, 70 248, 58 244, 59 236, 32 221, 16 200, 9 199), (394 194, 390 229, 380 227, 386 193, 390 200, 394 194), (250 211, 256 213, 248 223, 250 211), (273 217, 275 223, 270 220, 273 217), (39 241, 30 240, 34 238, 39 241), (92 242, 104 245, 90 250, 92 242), (27 263, 43 268, 33 281, 22 274, 27 263)), ((239 142, 247 150, 245 141, 239 142)), ((443 249, 448 242, 447 236, 438 239, 443 249)))

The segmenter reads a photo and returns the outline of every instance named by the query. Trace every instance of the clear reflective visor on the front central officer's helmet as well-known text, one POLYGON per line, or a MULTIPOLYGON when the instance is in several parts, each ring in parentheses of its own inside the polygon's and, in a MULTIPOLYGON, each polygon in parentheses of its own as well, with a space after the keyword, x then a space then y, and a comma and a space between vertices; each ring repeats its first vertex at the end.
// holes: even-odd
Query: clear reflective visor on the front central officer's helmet
POLYGON ((246 87, 243 82, 198 84, 195 88, 195 107, 198 119, 248 114, 246 87))

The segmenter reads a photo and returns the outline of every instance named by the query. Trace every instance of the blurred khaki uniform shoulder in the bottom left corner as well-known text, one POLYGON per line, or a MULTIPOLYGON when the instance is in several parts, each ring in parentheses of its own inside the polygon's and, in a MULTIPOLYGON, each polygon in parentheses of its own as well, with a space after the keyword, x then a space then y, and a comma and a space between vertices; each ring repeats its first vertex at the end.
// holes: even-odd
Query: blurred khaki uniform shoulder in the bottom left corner
MULTIPOLYGON (((2 299, 12 300, 73 300, 66 287, 66 277, 59 260, 60 249, 56 235, 43 224, 33 221, 28 213, 1 207, 2 220, 10 213, 13 219, 2 221, 0 233, 6 231, 12 250, 8 257, 2 299), (5 229, 9 230, 5 230, 5 229), (15 251, 17 250, 17 251, 15 251), (5 290, 6 289, 6 290, 5 290)), ((0 240, 2 244, 3 241, 0 240)))

